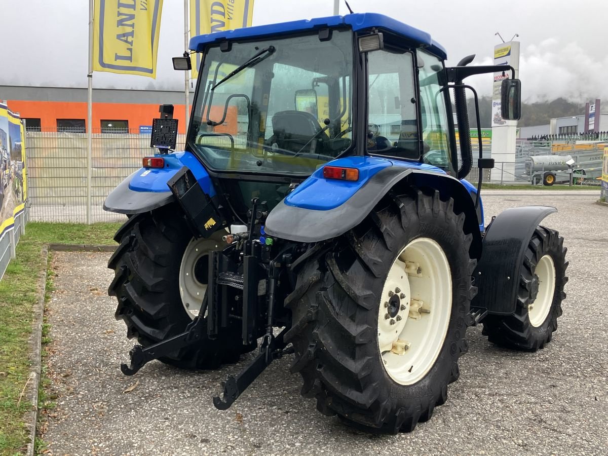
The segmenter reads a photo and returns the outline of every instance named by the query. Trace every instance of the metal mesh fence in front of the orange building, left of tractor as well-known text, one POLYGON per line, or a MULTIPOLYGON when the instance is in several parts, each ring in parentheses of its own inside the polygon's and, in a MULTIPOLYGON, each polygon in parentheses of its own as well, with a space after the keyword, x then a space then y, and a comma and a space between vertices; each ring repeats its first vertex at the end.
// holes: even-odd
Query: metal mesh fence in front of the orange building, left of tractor
MULTIPOLYGON (((185 135, 178 136, 183 148, 185 135)), ((26 133, 27 206, 30 219, 86 223, 87 135, 70 131, 26 133)), ((105 212, 103 201, 111 190, 140 168, 142 157, 153 153, 150 135, 93 132, 91 157, 91 221, 122 220, 105 212)))

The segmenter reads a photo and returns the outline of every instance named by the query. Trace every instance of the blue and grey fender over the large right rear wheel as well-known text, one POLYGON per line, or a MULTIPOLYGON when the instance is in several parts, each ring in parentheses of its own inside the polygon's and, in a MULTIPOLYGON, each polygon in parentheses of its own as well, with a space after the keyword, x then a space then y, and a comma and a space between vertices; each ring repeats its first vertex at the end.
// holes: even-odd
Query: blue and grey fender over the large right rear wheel
POLYGON ((471 256, 481 255, 481 233, 474 202, 465 186, 439 168, 376 157, 347 157, 328 163, 358 167, 358 182, 323 179, 317 170, 268 215, 268 235, 296 242, 313 243, 338 237, 357 226, 391 190, 430 188, 442 198, 454 198, 456 212, 465 213, 465 230, 473 235, 471 256))

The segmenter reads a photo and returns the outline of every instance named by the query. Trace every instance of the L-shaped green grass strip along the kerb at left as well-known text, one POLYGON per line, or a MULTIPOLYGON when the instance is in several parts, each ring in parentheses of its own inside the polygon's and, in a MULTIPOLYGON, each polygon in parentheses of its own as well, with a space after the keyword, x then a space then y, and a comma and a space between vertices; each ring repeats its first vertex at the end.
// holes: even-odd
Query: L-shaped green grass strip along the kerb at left
POLYGON ((112 237, 120 223, 93 225, 28 223, 0 280, 0 455, 22 452, 28 435, 22 423, 29 404, 21 399, 29 378, 29 337, 32 308, 38 299, 38 277, 46 258, 41 249, 47 243, 114 244, 112 237))

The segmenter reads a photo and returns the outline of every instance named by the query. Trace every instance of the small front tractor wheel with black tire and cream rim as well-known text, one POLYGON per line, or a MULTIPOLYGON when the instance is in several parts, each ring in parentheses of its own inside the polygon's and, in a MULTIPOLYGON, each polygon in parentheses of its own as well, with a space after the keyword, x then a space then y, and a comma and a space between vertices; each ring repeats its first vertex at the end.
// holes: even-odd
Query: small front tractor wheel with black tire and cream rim
POLYGON ((515 313, 483 320, 483 334, 490 342, 524 351, 536 351, 551 342, 566 297, 566 252, 557 231, 542 226, 534 230, 523 258, 515 313))

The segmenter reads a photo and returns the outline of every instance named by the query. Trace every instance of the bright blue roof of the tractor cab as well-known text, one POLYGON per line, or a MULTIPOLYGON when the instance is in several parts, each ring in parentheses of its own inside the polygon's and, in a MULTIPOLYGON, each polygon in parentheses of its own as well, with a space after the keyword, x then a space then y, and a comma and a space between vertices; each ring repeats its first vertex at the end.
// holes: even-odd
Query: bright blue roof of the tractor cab
POLYGON ((446 49, 441 44, 432 40, 429 33, 378 13, 354 13, 346 16, 328 16, 326 18, 303 19, 301 21, 281 22, 280 24, 246 27, 237 30, 224 30, 222 32, 209 33, 208 35, 193 36, 189 47, 190 50, 202 52, 208 44, 219 43, 221 41, 285 36, 292 33, 338 27, 348 27, 354 32, 364 32, 365 30, 374 28, 379 31, 390 32, 393 35, 413 41, 418 46, 429 48, 438 57, 446 58, 446 49))

